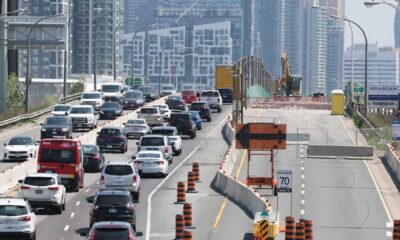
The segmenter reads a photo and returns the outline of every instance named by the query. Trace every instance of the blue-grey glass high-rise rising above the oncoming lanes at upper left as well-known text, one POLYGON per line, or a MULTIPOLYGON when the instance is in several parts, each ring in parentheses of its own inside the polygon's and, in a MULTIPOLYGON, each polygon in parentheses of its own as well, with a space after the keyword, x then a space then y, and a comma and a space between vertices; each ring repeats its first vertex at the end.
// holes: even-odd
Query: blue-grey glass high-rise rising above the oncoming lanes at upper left
MULTIPOLYGON (((93 74, 96 62, 97 74, 113 74, 114 28, 123 21, 121 0, 74 0, 73 20, 73 73, 93 74), (76 15, 82 9, 101 9, 76 15)), ((119 59, 119 33, 116 31, 116 57, 119 59)), ((117 69, 120 67, 116 61, 117 69)), ((117 74, 118 75, 118 74, 117 74)))

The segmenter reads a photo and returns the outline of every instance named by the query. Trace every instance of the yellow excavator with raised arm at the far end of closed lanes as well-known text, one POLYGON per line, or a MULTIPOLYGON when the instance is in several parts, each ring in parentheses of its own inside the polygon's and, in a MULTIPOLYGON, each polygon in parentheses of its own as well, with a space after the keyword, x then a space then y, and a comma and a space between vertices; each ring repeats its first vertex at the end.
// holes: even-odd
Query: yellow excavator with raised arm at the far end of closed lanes
POLYGON ((282 76, 275 80, 274 96, 301 96, 302 77, 290 74, 290 65, 285 51, 282 53, 281 66, 282 76))

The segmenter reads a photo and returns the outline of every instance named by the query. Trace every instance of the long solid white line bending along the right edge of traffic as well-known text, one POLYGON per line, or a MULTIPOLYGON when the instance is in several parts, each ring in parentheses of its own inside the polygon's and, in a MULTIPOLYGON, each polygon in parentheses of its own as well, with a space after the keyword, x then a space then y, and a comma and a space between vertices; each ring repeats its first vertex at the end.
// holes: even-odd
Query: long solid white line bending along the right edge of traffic
POLYGON ((216 130, 217 128, 219 128, 221 126, 222 123, 226 122, 226 119, 228 118, 228 116, 226 116, 217 126, 215 126, 213 128, 213 130, 211 130, 204 138, 203 140, 197 145, 197 147, 195 149, 193 149, 193 151, 191 151, 189 153, 189 155, 183 159, 183 161, 181 163, 179 163, 178 166, 176 166, 176 168, 174 170, 172 170, 172 172, 170 172, 168 174, 168 176, 166 178, 164 178, 163 181, 160 182, 160 184, 157 185, 156 188, 154 188, 154 190, 149 194, 149 197, 147 199, 147 224, 146 224, 146 237, 145 240, 150 240, 150 231, 151 231, 151 199, 153 198, 154 193, 172 176, 174 175, 174 173, 187 161, 190 159, 190 157, 197 151, 197 149, 200 148, 200 146, 206 141, 206 139, 208 138, 209 135, 211 135, 214 130, 216 130))

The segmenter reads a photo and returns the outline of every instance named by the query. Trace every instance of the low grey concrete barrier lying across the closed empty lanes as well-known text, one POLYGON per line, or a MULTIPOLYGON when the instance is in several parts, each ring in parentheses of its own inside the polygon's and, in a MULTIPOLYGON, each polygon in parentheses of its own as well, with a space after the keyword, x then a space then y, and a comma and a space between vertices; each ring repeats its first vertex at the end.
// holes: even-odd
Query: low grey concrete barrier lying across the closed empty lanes
POLYGON ((330 145, 309 145, 307 148, 309 157, 365 157, 374 156, 374 148, 369 146, 330 146, 330 145))

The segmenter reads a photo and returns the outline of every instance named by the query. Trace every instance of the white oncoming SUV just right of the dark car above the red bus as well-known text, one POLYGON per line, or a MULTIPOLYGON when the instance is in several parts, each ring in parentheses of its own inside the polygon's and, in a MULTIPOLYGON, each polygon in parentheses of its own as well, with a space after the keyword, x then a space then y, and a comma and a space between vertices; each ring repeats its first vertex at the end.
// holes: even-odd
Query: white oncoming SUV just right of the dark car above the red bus
POLYGON ((72 121, 72 131, 78 128, 97 128, 97 113, 93 106, 72 106, 69 110, 69 117, 72 121))

